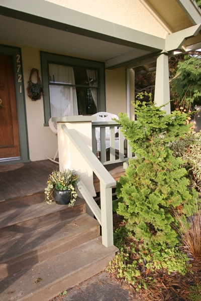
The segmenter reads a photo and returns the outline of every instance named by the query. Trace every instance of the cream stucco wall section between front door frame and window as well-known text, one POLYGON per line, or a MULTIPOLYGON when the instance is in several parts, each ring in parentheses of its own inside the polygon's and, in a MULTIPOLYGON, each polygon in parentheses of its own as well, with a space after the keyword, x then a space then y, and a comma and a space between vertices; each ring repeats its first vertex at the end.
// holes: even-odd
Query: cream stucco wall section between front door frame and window
MULTIPOLYGON (((30 160, 37 161, 47 159, 44 155, 47 155, 49 158, 53 158, 57 150, 57 137, 50 130, 49 126, 43 126, 43 98, 41 97, 41 99, 37 101, 32 101, 28 97, 26 91, 27 82, 32 68, 38 69, 41 77, 40 50, 27 46, 21 46, 21 50, 30 160)), ((37 82, 36 77, 33 77, 33 82, 37 82)))

